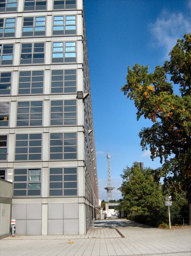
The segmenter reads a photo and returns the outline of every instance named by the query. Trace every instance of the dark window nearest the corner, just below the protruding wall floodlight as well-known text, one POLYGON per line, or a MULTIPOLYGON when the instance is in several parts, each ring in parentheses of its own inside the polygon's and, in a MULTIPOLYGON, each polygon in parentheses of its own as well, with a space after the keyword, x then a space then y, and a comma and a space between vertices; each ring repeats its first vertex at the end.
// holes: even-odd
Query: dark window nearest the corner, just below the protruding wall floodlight
POLYGON ((76 100, 52 100, 50 125, 76 125, 76 100))

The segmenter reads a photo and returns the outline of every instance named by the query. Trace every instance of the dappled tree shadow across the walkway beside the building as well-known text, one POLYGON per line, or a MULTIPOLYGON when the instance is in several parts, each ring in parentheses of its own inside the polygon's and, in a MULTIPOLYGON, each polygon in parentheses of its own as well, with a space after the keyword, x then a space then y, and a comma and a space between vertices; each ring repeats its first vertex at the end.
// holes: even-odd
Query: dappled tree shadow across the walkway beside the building
POLYGON ((95 220, 94 228, 131 228, 131 227, 139 227, 139 228, 152 228, 147 225, 143 225, 137 223, 132 220, 127 219, 108 219, 108 220, 95 220))

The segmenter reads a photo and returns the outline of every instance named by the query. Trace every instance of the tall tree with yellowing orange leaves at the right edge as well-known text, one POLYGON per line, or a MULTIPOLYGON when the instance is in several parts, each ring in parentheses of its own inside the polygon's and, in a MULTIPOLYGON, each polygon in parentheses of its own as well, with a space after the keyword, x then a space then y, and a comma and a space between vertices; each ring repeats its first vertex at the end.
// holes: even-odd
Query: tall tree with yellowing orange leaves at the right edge
POLYGON ((153 122, 142 128, 141 146, 151 151, 151 159, 160 157, 160 176, 169 191, 187 191, 191 225, 191 34, 178 39, 169 53, 170 61, 148 73, 148 66, 128 67, 127 84, 121 90, 134 100, 137 120, 141 116, 153 122), (173 92, 179 85, 180 95, 173 92))

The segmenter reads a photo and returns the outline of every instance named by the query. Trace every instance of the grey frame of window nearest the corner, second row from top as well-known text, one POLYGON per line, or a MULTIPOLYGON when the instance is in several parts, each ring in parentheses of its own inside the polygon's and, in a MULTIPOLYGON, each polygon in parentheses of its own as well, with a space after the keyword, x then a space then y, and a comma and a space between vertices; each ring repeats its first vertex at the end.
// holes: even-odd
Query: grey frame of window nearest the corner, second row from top
MULTIPOLYGON (((62 21, 62 20, 57 20, 57 21, 62 21)), ((68 35, 76 35, 77 33, 77 15, 69 15, 69 14, 64 14, 64 15, 53 15, 52 17, 52 36, 68 36, 68 35), (74 24, 66 24, 66 17, 75 17, 75 23, 74 24), (63 17, 63 24, 54 24, 55 17, 63 17), (58 27, 58 26, 63 26, 62 30, 54 30, 54 27, 58 27), (66 26, 75 26, 75 29, 66 29, 66 26), (63 31, 63 33, 54 33, 54 31, 63 31), (74 31, 74 33, 66 33, 66 31, 74 31)))

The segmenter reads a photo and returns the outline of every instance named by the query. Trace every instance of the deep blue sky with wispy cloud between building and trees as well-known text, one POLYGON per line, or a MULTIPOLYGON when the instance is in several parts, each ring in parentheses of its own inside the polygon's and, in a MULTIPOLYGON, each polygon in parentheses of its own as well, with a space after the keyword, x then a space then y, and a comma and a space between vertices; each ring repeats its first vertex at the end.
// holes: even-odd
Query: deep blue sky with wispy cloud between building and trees
POLYGON ((111 155, 114 199, 121 198, 120 174, 126 165, 143 162, 158 168, 159 159, 142 151, 137 135, 149 120, 136 120, 134 102, 126 99, 128 65, 149 65, 149 72, 168 59, 177 38, 191 32, 191 0, 84 0, 99 198, 106 200, 107 152, 111 155))

